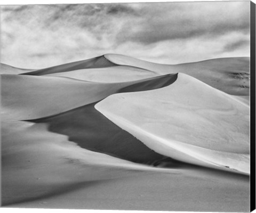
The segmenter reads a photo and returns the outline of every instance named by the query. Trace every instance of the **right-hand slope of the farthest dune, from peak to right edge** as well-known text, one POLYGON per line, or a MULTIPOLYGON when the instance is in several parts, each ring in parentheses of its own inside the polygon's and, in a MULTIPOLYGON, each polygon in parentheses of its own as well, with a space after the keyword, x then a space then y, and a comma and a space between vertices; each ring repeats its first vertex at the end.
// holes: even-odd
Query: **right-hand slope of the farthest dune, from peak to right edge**
POLYGON ((115 64, 148 69, 159 75, 182 72, 228 94, 249 95, 250 58, 222 58, 169 65, 118 54, 105 54, 105 57, 115 64))

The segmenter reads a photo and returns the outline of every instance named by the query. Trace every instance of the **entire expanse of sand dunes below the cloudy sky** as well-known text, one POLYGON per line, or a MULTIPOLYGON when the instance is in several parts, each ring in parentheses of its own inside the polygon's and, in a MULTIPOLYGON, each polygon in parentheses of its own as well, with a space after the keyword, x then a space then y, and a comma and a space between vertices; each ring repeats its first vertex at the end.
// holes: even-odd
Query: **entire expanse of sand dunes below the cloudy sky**
POLYGON ((249 211, 248 62, 1 65, 2 205, 249 211))

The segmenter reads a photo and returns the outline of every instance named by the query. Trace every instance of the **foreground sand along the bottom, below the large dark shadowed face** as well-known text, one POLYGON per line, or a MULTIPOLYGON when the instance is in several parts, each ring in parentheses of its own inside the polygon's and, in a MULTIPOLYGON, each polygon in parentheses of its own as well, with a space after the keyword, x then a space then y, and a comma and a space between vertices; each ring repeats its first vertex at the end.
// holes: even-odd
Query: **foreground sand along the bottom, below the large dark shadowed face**
POLYGON ((47 132, 43 124, 9 121, 2 122, 2 128, 4 206, 177 211, 249 208, 247 176, 193 166, 142 167, 79 148, 65 136, 47 132))

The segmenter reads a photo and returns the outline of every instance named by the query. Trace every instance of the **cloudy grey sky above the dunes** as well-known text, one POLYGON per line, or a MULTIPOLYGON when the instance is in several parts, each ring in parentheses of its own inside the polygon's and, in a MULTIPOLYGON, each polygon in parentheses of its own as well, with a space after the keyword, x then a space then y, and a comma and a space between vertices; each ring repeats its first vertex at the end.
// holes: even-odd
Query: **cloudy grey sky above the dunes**
POLYGON ((1 6, 1 62, 45 68, 106 53, 177 64, 250 56, 250 2, 1 6))

